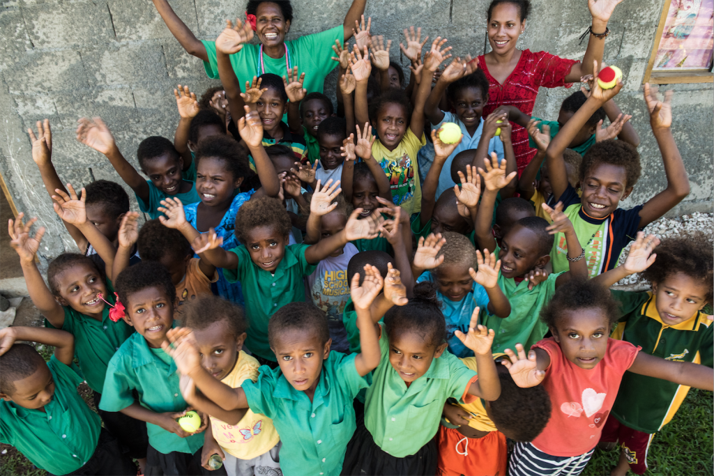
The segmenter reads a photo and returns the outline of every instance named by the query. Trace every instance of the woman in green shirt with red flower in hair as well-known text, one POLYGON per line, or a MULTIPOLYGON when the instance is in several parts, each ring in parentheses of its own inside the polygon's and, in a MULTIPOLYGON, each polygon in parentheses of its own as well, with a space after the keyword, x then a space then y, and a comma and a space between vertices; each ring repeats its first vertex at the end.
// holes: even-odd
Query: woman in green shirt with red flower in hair
MULTIPOLYGON (((303 87, 308 93, 313 91, 321 93, 325 76, 337 66, 337 61, 331 59, 334 54, 332 46, 336 40, 343 44, 352 37, 355 32, 354 27, 364 13, 366 2, 367 0, 353 0, 342 26, 286 41, 285 35, 290 31, 293 20, 293 7, 290 1, 248 1, 246 16, 248 16, 248 23, 251 23, 251 20, 255 21, 253 30, 256 32, 259 44, 245 44, 241 51, 231 55, 231 64, 236 71, 236 76, 243 81, 263 73, 285 76, 286 69, 299 65, 300 71, 305 73, 303 87)), ((203 67, 209 78, 218 79, 216 43, 198 40, 171 9, 169 1, 154 0, 154 6, 183 49, 203 60, 203 67)), ((358 46, 367 44, 369 37, 368 28, 358 27, 356 32, 358 46)))

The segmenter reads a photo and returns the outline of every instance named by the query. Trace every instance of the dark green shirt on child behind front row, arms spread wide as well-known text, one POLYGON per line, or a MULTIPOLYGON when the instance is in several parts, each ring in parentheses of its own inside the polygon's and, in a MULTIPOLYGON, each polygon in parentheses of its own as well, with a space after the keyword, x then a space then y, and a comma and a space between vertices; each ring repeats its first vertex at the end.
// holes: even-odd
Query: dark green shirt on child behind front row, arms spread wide
POLYGON ((223 276, 228 283, 240 281, 246 299, 246 319, 250 332, 246 338, 246 347, 258 357, 277 362, 275 354, 268 344, 268 320, 276 310, 288 303, 305 301, 303 278, 311 275, 316 265, 305 260, 308 245, 288 245, 285 255, 275 274, 259 268, 251 259, 251 253, 244 245, 233 248, 238 255, 238 267, 234 270, 223 269, 223 276))

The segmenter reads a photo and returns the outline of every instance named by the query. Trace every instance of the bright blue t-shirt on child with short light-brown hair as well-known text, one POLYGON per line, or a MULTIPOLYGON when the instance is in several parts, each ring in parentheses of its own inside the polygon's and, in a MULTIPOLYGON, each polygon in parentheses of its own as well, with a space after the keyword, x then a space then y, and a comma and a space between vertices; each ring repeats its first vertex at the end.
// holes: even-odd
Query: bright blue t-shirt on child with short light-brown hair
MULTIPOLYGON (((416 280, 417 283, 423 283, 424 281, 437 284, 436 278, 428 271, 421 273, 421 276, 416 280)), ((480 315, 483 316, 488 313, 486 307, 491 300, 488 298, 486 288, 474 281, 471 293, 468 293, 458 302, 449 300, 445 295, 439 293, 438 289, 436 290, 436 296, 441 300, 441 312, 444 315, 444 320, 446 320, 446 342, 448 343, 449 352, 459 358, 473 357, 473 350, 463 345, 454 333, 456 330, 468 333, 471 314, 473 314, 476 306, 481 308, 480 315)), ((484 322, 483 318, 481 322, 484 322)))

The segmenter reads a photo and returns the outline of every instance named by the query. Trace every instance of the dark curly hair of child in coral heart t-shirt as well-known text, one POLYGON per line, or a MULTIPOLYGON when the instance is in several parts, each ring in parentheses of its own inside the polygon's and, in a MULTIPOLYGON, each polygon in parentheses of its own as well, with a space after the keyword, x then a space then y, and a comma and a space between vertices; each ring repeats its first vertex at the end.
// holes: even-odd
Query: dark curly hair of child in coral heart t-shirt
MULTIPOLYGON (((542 220, 542 218, 541 218, 542 220)), ((611 329, 620 318, 618 303, 610 295, 610 290, 590 280, 571 278, 555 290, 548 305, 540 310, 540 321, 550 329, 557 329, 565 311, 600 309, 611 329)))

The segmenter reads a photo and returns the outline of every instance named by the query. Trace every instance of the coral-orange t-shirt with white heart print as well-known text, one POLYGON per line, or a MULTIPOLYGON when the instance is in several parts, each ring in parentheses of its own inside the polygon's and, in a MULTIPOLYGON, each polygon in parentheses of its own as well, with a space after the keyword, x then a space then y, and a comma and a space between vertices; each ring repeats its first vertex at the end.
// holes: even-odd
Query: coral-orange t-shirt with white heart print
POLYGON ((592 450, 608 419, 620 380, 635 361, 641 347, 608 338, 608 350, 595 368, 586 370, 570 362, 553 338, 532 348, 545 350, 550 366, 543 385, 550 395, 550 420, 533 446, 548 455, 573 457, 592 450))

